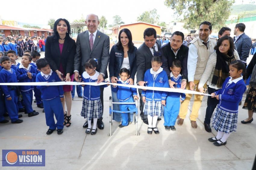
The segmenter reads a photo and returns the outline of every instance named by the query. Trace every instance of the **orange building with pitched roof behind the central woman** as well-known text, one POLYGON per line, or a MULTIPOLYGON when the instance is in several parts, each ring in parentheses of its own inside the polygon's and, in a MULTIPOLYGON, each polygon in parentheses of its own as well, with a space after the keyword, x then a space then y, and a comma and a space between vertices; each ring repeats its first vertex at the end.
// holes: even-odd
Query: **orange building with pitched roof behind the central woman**
POLYGON ((133 42, 144 42, 143 33, 146 28, 154 28, 156 30, 156 34, 161 35, 161 29, 163 27, 144 22, 123 24, 112 27, 112 35, 118 38, 120 30, 124 28, 127 28, 131 31, 133 42))

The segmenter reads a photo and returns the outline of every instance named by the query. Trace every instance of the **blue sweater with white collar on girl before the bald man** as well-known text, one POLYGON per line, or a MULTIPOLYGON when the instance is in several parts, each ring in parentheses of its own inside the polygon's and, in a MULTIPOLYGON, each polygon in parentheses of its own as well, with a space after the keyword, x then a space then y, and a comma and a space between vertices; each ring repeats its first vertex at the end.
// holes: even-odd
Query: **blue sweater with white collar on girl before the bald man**
MULTIPOLYGON (((82 74, 82 81, 85 83, 97 82, 99 72, 95 71, 93 76, 87 74, 86 71, 82 74)), ((105 81, 104 81, 105 82, 105 81)), ((100 99, 100 87, 108 87, 107 85, 91 86, 85 85, 83 87, 83 97, 87 100, 99 100, 100 99)))

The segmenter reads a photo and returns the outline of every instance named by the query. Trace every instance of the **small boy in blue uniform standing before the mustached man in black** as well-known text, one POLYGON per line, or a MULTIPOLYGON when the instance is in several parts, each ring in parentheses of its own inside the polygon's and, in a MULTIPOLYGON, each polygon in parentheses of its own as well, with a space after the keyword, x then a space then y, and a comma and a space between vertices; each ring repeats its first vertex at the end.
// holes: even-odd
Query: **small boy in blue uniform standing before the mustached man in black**
MULTIPOLYGON (((182 82, 182 76, 180 74, 181 71, 181 62, 179 60, 174 60, 170 67, 171 73, 171 81, 175 82, 174 87, 180 88, 182 82)), ((185 100, 186 94, 185 93, 175 93, 175 92, 168 92, 166 98, 166 106, 164 107, 164 128, 167 131, 175 131, 175 122, 176 118, 180 111, 180 102, 185 100)))

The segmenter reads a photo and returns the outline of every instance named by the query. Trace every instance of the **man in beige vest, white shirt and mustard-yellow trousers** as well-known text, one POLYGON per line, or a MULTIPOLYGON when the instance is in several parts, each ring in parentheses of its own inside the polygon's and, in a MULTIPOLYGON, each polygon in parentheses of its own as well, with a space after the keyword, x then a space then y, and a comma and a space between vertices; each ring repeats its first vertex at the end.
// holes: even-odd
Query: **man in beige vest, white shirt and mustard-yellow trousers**
MULTIPOLYGON (((211 23, 208 21, 204 21, 199 26, 198 37, 191 41, 189 46, 189 55, 188 55, 188 80, 189 84, 187 84, 187 90, 198 90, 199 80, 204 72, 207 61, 211 53, 214 52, 214 46, 216 45, 216 41, 214 38, 210 38, 211 34, 211 23)), ((204 87, 207 88, 206 84, 204 87)), ((186 99, 181 103, 179 120, 177 122, 178 125, 182 125, 184 119, 186 118, 188 112, 189 101, 192 97, 192 94, 186 94, 186 99)), ((191 127, 196 129, 197 123, 196 119, 198 117, 198 111, 201 106, 202 100, 204 96, 195 95, 192 113, 190 114, 190 122, 191 127)))

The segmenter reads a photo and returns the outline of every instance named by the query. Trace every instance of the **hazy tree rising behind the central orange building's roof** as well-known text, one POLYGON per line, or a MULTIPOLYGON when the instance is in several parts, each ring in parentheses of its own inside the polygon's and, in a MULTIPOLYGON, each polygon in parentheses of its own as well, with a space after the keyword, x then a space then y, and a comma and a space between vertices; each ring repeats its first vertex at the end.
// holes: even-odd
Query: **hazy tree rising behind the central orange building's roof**
POLYGON ((143 12, 138 18, 137 21, 142 21, 145 23, 155 24, 159 20, 159 15, 157 14, 157 10, 154 8, 151 11, 143 12))

